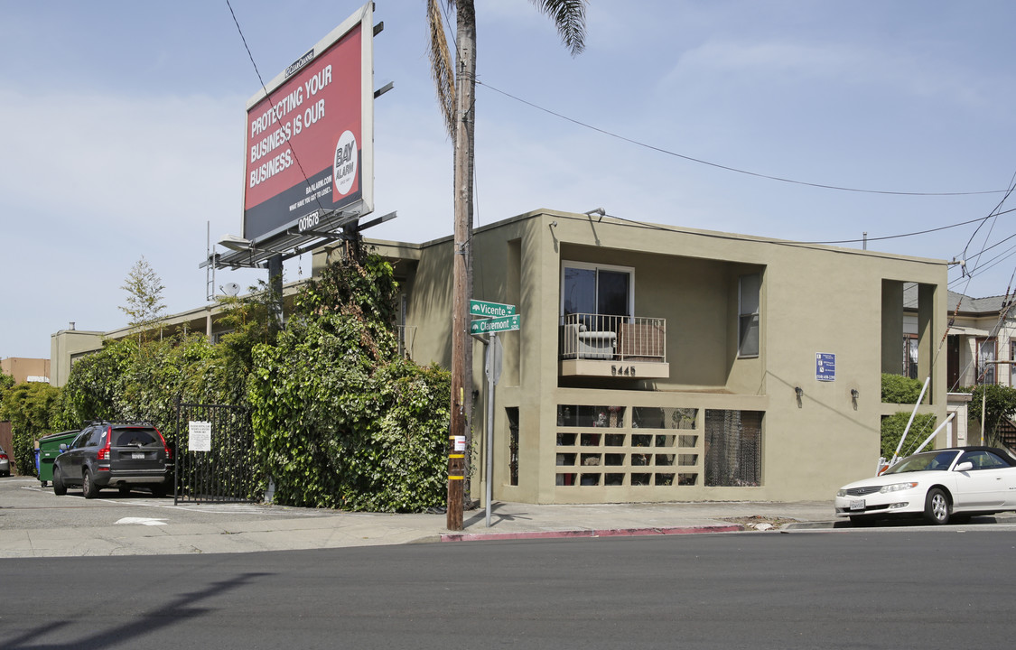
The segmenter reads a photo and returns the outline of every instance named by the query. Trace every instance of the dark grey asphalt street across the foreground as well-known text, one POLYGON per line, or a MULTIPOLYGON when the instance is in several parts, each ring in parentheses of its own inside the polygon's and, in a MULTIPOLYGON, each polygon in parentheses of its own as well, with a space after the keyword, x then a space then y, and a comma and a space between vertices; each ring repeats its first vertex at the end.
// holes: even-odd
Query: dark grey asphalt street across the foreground
POLYGON ((0 647, 1008 648, 1013 532, 0 560, 0 647))

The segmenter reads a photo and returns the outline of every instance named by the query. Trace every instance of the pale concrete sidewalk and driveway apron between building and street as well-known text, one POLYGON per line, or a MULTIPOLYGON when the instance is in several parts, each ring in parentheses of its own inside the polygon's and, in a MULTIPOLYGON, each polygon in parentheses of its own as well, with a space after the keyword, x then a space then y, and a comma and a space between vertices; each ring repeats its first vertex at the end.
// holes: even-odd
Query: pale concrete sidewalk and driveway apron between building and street
MULTIPOLYGON (((61 498, 65 499, 65 498, 61 498)), ((49 518, 18 525, 0 508, 0 558, 251 552, 416 542, 634 534, 717 533, 830 528, 832 506, 809 503, 671 503, 552 505, 495 503, 468 510, 462 531, 444 514, 371 514, 256 504, 174 506, 169 500, 106 500, 84 524, 61 525, 64 504, 49 518), (168 502, 168 503, 167 503, 168 502), (102 515, 102 516, 100 516, 102 515), (131 516, 124 516, 131 515, 131 516), (91 525, 91 520, 103 525, 91 525), (48 522, 53 521, 52 525, 48 522)), ((33 512, 21 509, 23 512, 33 512)), ((27 517, 27 515, 24 515, 27 517)), ((23 519, 22 519, 23 520, 23 519)), ((761 533, 756 533, 761 534, 761 533)))

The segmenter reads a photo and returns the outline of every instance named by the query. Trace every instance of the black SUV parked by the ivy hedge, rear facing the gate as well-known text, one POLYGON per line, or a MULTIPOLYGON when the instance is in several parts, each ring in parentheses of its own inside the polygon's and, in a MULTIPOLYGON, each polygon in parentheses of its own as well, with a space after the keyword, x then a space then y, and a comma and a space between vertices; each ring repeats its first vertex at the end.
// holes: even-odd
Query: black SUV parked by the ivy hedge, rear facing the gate
POLYGON ((149 488, 165 497, 173 486, 173 450, 149 424, 117 425, 97 421, 85 426, 53 462, 53 494, 66 495, 68 485, 80 485, 85 499, 103 488, 149 488))

